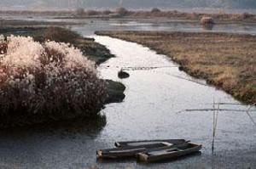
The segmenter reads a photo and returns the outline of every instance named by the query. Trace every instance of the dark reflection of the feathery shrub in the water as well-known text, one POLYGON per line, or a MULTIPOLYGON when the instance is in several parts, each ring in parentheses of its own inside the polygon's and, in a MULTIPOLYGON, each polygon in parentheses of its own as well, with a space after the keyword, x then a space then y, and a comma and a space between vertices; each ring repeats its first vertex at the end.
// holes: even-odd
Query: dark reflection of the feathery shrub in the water
MULTIPOLYGON (((61 134, 84 134, 90 136, 90 138, 96 138, 96 136, 106 126, 107 120, 105 115, 96 115, 93 118, 77 118, 68 121, 55 121, 50 123, 38 124, 29 127, 15 127, 10 129, 4 129, 0 132, 0 141, 4 138, 19 138, 26 139, 37 136, 38 134, 53 135, 61 134)), ((17 142, 19 144, 19 141, 17 142)))

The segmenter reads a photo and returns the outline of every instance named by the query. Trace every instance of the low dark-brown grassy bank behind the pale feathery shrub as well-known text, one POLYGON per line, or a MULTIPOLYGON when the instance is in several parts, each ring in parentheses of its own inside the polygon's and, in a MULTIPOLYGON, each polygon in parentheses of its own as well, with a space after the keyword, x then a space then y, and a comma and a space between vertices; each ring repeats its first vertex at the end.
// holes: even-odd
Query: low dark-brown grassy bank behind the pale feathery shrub
MULTIPOLYGON (((108 48, 95 42, 93 38, 81 37, 77 32, 62 27, 3 27, 0 26, 0 34, 4 36, 30 36, 38 42, 48 40, 66 42, 79 48, 89 59, 101 64, 113 57, 108 48)), ((0 51, 1 52, 1 51, 0 51)))

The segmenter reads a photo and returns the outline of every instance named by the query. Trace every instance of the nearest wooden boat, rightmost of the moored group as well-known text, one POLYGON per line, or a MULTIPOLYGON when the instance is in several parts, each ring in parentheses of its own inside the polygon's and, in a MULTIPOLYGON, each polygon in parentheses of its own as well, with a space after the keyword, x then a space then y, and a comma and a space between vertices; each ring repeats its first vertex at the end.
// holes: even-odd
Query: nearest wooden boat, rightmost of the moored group
POLYGON ((149 151, 140 152, 137 154, 137 160, 143 162, 158 162, 165 160, 176 159, 183 155, 190 155, 201 150, 201 144, 185 143, 177 144, 162 149, 153 149, 149 151))

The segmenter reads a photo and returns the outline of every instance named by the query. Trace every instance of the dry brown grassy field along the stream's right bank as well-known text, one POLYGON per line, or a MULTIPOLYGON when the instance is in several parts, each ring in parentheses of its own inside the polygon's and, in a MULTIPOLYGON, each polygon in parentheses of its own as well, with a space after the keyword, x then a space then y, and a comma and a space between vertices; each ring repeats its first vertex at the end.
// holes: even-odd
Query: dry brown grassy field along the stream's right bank
POLYGON ((256 37, 224 33, 98 31, 166 54, 191 76, 256 103, 256 37))

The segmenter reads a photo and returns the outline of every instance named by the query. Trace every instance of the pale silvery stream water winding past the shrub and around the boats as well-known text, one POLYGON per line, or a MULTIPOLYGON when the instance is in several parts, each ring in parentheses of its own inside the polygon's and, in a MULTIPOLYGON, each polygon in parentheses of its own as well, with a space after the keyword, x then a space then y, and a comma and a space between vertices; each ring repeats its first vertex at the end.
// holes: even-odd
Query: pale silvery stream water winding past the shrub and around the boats
MULTIPOLYGON (((74 27, 84 36, 86 27, 74 27)), ((178 70, 164 55, 137 43, 93 36, 116 57, 98 68, 102 78, 123 82, 123 103, 108 104, 98 121, 68 121, 52 127, 20 128, 0 132, 0 166, 5 168, 246 168, 256 166, 256 130, 240 104, 229 94, 178 70), (127 68, 131 77, 119 80, 127 68), (212 154, 212 109, 218 113, 212 154), (234 111, 229 111, 234 110, 234 111), (96 149, 113 147, 117 140, 185 138, 203 144, 201 155, 145 165, 137 161, 97 161, 96 149)))

